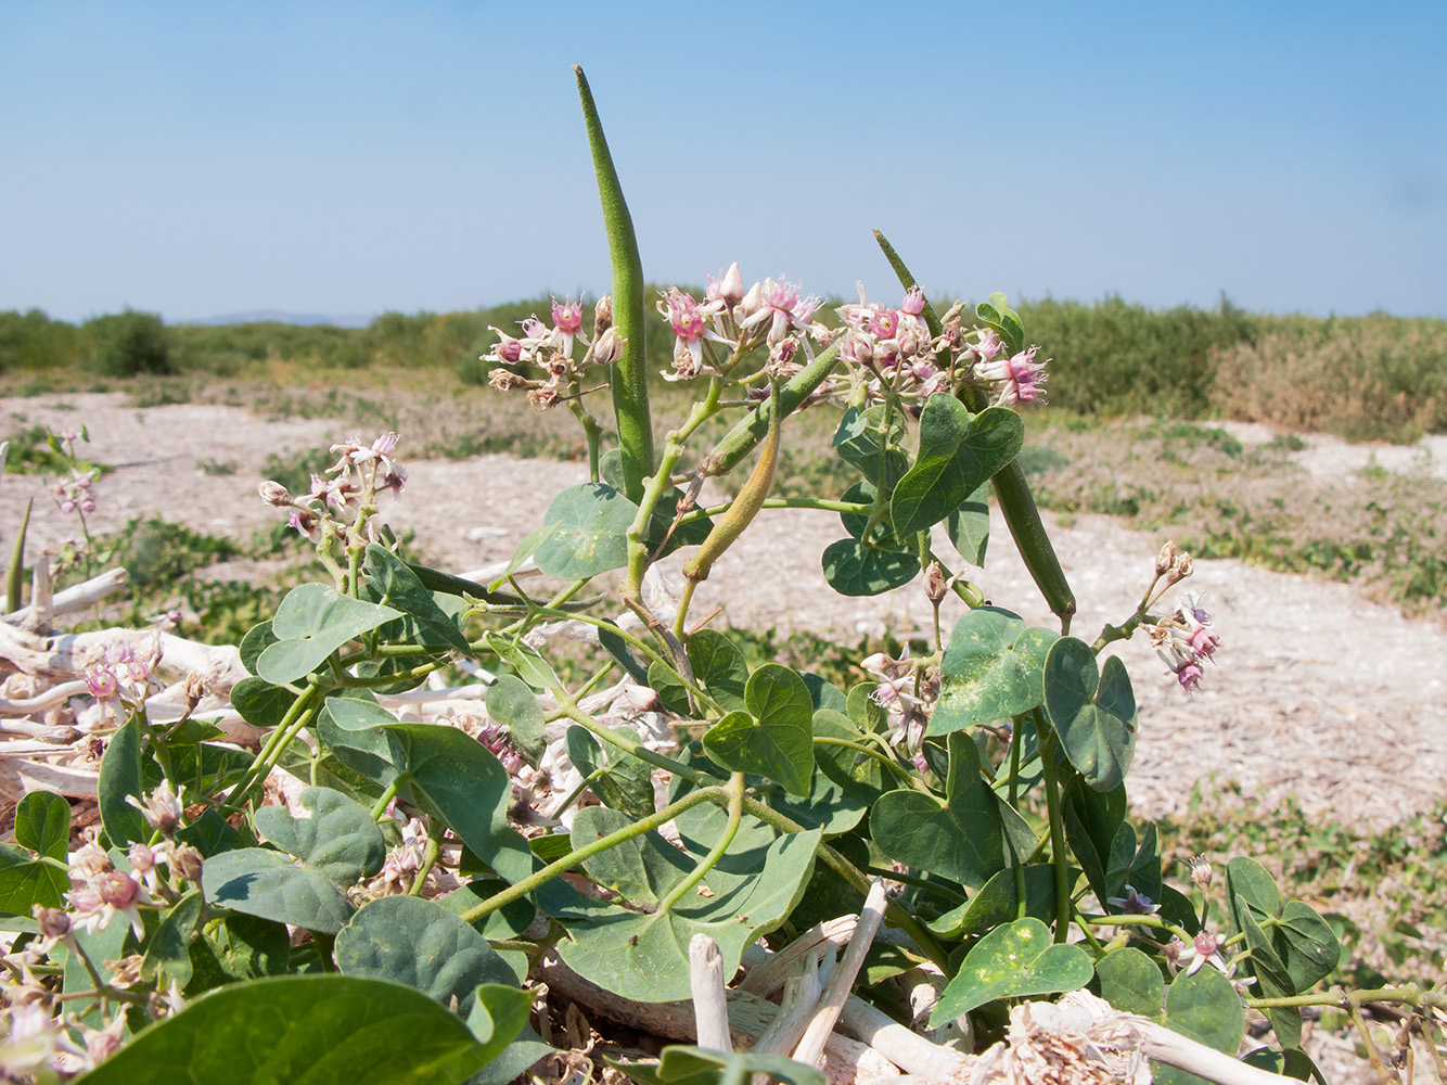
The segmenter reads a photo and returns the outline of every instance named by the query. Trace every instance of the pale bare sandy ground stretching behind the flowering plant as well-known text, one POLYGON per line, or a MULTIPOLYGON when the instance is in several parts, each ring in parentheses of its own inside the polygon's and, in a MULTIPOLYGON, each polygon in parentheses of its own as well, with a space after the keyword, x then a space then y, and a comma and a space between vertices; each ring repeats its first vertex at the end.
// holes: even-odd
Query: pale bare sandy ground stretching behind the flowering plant
MULTIPOLYGON (((116 470, 97 485, 93 531, 129 518, 162 515, 214 534, 247 537, 272 516, 256 498, 268 453, 341 438, 327 420, 268 421, 217 405, 124 407, 119 395, 0 401, 4 430, 85 424, 85 453, 116 470), (22 418, 23 417, 23 418, 22 418), (233 475, 207 475, 203 461, 234 461, 233 475)), ((1240 440, 1269 440, 1265 427, 1233 427, 1240 440)), ((506 558, 543 521, 548 498, 586 480, 582 464, 483 456, 466 461, 408 461, 401 501, 383 516, 412 528, 417 545, 444 569, 464 571, 506 558)), ((1415 450, 1349 446, 1311 435, 1298 453, 1312 470, 1341 472, 1373 457, 1405 469, 1430 456, 1447 472, 1447 438, 1415 450)), ((0 486, 0 525, 14 525, 36 495, 30 538, 52 545, 74 522, 49 499, 43 479, 10 476, 0 486)), ((1108 518, 1079 516, 1052 538, 1079 613, 1074 632, 1092 638, 1106 621, 1127 616, 1150 576, 1159 537, 1108 518)), ((3 534, 9 534, 7 531, 3 534)), ((842 537, 832 514, 765 511, 754 529, 715 566, 693 603, 705 615, 728 599, 726 621, 781 631, 810 629, 846 639, 884 629, 907 634, 929 621, 920 582, 877 599, 835 595, 819 571, 822 550, 842 537)), ((9 548, 10 540, 0 541, 9 548)), ((35 553, 32 550, 32 553, 35 553)), ((948 544, 941 553, 951 553, 948 544)), ((674 583, 679 558, 666 564, 674 583)), ((985 569, 975 576, 997 605, 1053 625, 1003 524, 996 524, 985 569)), ((1194 783, 1237 781, 1273 804, 1291 793, 1311 812, 1388 823, 1428 809, 1447 794, 1447 631, 1408 621, 1353 587, 1270 573, 1239 561, 1198 561, 1191 586, 1205 592, 1223 639, 1207 687, 1187 697, 1143 638, 1119 647, 1140 705, 1132 797, 1143 814, 1178 809, 1194 783)), ((954 622, 958 610, 948 612, 954 622)))

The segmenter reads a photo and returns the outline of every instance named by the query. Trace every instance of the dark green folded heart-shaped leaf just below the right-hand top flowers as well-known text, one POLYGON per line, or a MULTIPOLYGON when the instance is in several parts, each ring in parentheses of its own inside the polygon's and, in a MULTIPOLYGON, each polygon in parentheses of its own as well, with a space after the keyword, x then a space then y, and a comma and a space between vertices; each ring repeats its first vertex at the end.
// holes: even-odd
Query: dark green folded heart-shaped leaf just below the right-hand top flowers
POLYGON ((936 392, 919 417, 919 456, 894 486, 894 534, 907 538, 949 516, 1020 451, 1024 422, 1004 407, 974 418, 955 396, 936 392))

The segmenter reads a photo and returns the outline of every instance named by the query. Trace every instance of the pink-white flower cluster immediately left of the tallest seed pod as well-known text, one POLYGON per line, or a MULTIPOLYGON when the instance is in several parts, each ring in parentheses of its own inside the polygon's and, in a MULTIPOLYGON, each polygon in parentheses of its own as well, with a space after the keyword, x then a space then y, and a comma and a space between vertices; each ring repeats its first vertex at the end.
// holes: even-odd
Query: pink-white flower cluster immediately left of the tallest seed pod
POLYGON ((512 369, 493 369, 488 383, 499 392, 527 391, 528 402, 538 411, 547 411, 572 396, 582 393, 583 370, 593 366, 609 366, 622 354, 624 339, 614 327, 612 298, 601 298, 593 307, 593 340, 583 331, 583 304, 580 301, 553 299, 553 327, 537 314, 521 321, 522 334, 509 336, 498 327, 498 341, 482 356, 483 362, 504 366, 534 365, 547 373, 546 380, 519 376, 512 369), (573 357, 576 344, 585 347, 583 357, 573 357))

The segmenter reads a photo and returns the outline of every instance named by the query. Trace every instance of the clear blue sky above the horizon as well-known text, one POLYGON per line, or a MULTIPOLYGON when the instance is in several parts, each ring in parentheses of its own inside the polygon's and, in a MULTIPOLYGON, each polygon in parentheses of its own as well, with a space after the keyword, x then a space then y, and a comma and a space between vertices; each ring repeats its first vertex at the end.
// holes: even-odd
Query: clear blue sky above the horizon
POLYGON ((0 0, 0 308, 608 288, 1447 317, 1447 4, 0 0))

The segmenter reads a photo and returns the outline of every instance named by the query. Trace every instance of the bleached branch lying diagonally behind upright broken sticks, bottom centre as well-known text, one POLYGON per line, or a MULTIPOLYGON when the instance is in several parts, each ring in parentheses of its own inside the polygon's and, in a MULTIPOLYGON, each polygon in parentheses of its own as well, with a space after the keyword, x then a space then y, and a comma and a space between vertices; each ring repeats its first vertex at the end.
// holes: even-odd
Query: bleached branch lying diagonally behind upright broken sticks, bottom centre
MULTIPOLYGON (((550 961, 535 969, 534 978, 543 979, 554 994, 572 998, 585 1008, 629 1029, 664 1040, 692 1043, 696 1039, 693 1007, 687 1003, 637 1003, 619 998, 612 991, 583 979, 561 961, 550 961)), ((777 1013, 777 1005, 757 995, 728 991, 729 1036, 735 1050, 751 1049, 777 1013)), ((870 1085, 880 1078, 899 1076, 899 1068, 877 1050, 844 1036, 829 1037, 820 1069, 829 1076, 829 1085, 870 1085)))

